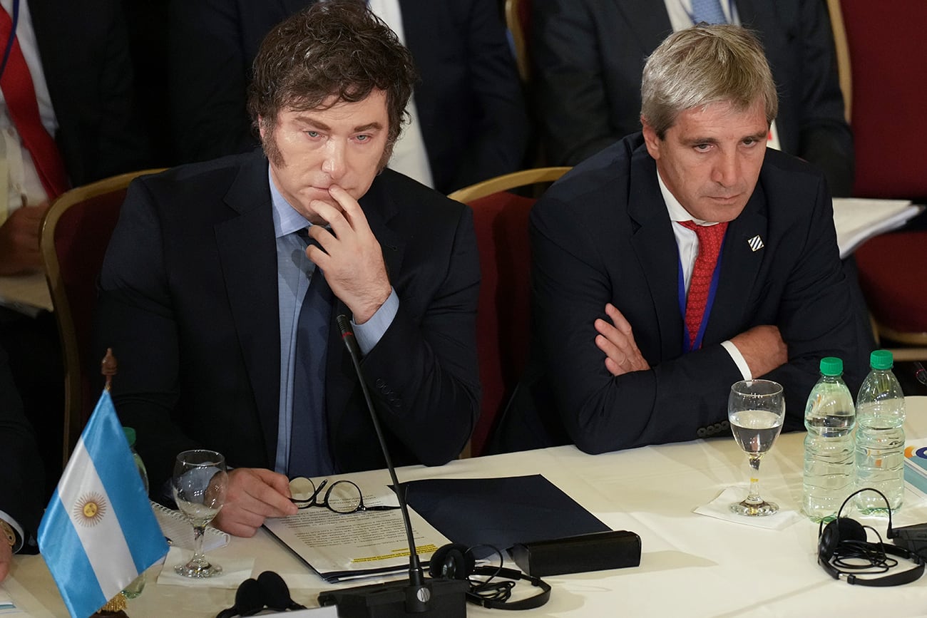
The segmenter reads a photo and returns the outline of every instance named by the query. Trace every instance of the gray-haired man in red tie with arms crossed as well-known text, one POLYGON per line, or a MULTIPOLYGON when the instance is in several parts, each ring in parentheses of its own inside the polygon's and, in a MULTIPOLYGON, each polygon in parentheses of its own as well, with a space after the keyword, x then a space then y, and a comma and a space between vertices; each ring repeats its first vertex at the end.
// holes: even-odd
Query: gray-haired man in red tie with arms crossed
POLYGON ((535 346, 500 449, 590 453, 727 428, 738 380, 784 386, 802 426, 819 359, 866 365, 819 171, 767 149, 777 97, 739 26, 676 32, 647 61, 643 131, 531 213, 535 346))

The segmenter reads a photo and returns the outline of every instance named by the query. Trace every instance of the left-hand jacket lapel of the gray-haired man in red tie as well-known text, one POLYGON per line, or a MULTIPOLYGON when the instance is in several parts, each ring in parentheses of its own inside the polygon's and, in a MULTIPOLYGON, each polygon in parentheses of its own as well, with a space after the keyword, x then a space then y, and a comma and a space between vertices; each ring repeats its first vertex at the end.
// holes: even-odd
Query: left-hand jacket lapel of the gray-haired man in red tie
POLYGON ((660 329, 660 355, 679 356, 682 316, 679 313, 679 250, 667 208, 656 181, 656 163, 641 145, 632 155, 628 212, 640 227, 631 236, 654 303, 660 329))

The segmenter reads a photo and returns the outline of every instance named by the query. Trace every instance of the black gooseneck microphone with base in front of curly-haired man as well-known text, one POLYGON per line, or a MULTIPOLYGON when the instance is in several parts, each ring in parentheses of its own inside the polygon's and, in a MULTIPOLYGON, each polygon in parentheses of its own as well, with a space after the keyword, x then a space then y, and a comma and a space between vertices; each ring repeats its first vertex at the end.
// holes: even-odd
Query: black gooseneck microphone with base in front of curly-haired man
POLYGON ((399 499, 402 513, 402 523, 405 525, 406 540, 409 542, 409 581, 357 586, 324 592, 319 595, 319 604, 322 606, 337 605, 339 618, 392 618, 394 616, 464 618, 466 616, 465 592, 469 587, 467 582, 452 579, 425 580, 422 564, 418 559, 418 553, 415 551, 415 538, 412 531, 412 520, 409 518, 409 507, 406 505, 405 490, 396 477, 396 468, 393 467, 392 458, 389 457, 387 442, 383 436, 379 418, 374 410, 374 401, 371 399, 370 390, 363 379, 361 349, 350 330, 348 318, 344 315, 337 316, 337 324, 341 330, 341 339, 348 348, 351 362, 354 365, 354 372, 357 373, 358 380, 361 382, 363 399, 374 423, 376 439, 383 450, 389 477, 396 488, 396 497, 399 499))

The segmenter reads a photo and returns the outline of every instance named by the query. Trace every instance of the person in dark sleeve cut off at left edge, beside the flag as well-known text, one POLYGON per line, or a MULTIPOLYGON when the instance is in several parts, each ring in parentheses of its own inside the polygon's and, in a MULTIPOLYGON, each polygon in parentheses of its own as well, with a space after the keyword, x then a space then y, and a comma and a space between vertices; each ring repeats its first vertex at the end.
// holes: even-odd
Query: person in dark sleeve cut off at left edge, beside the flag
POLYGON ((0 582, 9 573, 13 553, 35 551, 30 540, 39 529, 44 509, 42 458, 32 426, 22 413, 22 402, 0 347, 0 582))

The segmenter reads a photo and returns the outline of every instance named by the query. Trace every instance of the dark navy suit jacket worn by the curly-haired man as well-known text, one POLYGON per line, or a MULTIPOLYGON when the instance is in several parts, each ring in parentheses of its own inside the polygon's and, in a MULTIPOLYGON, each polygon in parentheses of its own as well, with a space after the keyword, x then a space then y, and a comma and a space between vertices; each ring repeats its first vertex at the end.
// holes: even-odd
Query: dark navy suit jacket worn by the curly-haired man
MULTIPOLYGON (((273 468, 280 390, 277 257, 267 159, 192 164, 135 181, 100 276, 96 341, 119 360, 113 400, 152 486, 185 448, 273 468)), ((363 370, 397 463, 442 464, 479 401, 479 263, 469 208, 391 170, 360 204, 400 309, 363 370)), ((339 472, 385 465, 360 383, 329 329, 325 413, 339 472)), ((99 357, 102 358, 102 357, 99 357)))

